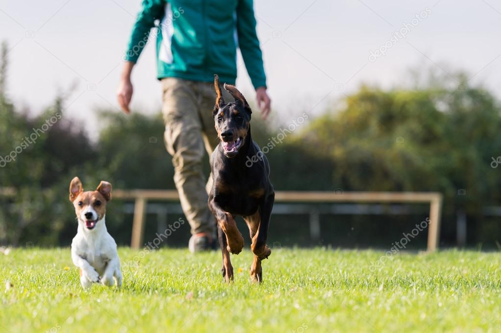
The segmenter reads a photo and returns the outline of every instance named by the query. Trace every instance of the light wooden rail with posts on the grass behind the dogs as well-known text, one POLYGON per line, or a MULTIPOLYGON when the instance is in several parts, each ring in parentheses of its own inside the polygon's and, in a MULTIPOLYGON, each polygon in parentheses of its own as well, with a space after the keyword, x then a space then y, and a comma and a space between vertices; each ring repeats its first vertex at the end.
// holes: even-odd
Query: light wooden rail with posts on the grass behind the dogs
MULTIPOLYGON (((15 193, 16 191, 13 188, 0 188, 0 195, 3 196, 14 196, 15 193)), ((148 201, 179 201, 179 195, 176 190, 115 189, 113 190, 113 197, 134 201, 131 237, 131 247, 133 248, 140 248, 143 242, 144 221, 148 201)), ((427 250, 431 252, 438 248, 442 210, 442 194, 438 192, 276 191, 275 202, 429 203, 430 221, 427 250)), ((310 229, 320 234, 319 218, 310 219, 310 229)))

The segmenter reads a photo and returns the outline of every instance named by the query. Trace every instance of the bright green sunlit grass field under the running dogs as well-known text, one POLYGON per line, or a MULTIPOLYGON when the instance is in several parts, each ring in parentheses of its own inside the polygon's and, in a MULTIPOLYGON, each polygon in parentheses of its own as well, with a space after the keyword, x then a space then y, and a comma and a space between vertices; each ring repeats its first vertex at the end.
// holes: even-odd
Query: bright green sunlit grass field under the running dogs
POLYGON ((499 253, 398 253, 372 269, 383 252, 274 249, 262 285, 249 282, 248 249, 232 256, 229 285, 219 251, 162 249, 139 262, 137 254, 119 249, 121 290, 84 291, 69 248, 0 253, 0 330, 501 331, 499 253))

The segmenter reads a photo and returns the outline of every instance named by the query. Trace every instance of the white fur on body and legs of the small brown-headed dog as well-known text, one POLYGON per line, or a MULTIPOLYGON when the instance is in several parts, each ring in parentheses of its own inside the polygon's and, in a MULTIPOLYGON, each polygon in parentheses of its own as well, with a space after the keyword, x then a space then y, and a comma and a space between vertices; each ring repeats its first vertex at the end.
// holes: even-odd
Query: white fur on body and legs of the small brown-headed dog
MULTIPOLYGON (((94 209, 92 207, 86 209, 89 210, 93 211, 97 218, 94 209)), ((85 226, 84 213, 78 216, 77 235, 71 243, 71 258, 82 271, 80 283, 84 288, 90 287, 92 282, 101 282, 109 286, 115 282, 118 287, 122 286, 117 244, 106 229, 105 216, 93 229, 88 229, 85 226)))

